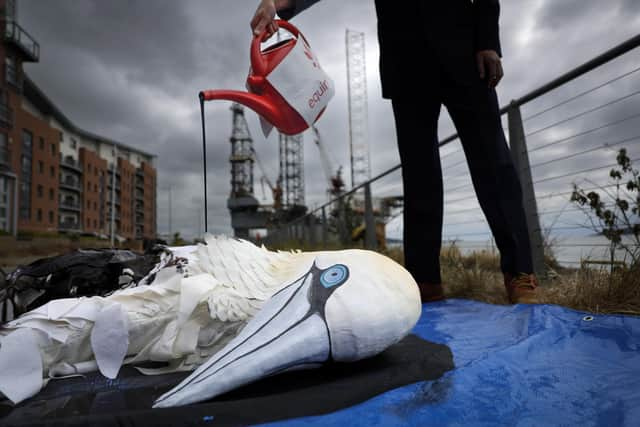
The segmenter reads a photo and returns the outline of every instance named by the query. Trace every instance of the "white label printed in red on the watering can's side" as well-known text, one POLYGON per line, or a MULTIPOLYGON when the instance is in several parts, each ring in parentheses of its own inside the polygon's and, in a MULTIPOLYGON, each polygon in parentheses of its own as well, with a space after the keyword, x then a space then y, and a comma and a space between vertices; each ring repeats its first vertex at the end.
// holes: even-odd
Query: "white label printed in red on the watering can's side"
MULTIPOLYGON (((267 80, 309 126, 335 94, 333 80, 320 67, 304 37, 298 37, 289 54, 267 75, 267 80)), ((263 131, 267 131, 267 123, 262 124, 263 131)))

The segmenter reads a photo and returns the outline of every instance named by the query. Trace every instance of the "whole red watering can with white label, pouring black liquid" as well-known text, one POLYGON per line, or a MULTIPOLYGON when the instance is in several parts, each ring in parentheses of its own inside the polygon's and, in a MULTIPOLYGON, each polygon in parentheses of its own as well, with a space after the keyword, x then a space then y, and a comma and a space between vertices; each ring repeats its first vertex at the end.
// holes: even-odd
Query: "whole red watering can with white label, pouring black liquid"
POLYGON ((246 105, 263 119, 265 133, 270 126, 275 126, 286 135, 295 135, 318 120, 333 97, 333 81, 294 25, 273 21, 268 29, 253 38, 250 58, 249 92, 205 90, 200 92, 201 102, 227 99, 246 105), (287 30, 293 38, 262 50, 261 43, 278 27, 287 30))

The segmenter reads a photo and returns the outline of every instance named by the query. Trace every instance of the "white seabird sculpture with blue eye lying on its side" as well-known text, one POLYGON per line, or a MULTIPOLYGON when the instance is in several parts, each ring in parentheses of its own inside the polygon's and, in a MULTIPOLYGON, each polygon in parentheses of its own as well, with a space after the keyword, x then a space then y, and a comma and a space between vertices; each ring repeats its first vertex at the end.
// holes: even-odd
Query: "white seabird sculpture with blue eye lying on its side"
POLYGON ((0 392, 17 403, 51 378, 168 362, 195 370, 154 407, 185 405, 280 372, 380 353, 413 328, 417 285, 371 251, 272 252, 207 236, 172 248, 149 285, 51 301, 0 328, 0 392), (199 367, 198 367, 199 366, 199 367))

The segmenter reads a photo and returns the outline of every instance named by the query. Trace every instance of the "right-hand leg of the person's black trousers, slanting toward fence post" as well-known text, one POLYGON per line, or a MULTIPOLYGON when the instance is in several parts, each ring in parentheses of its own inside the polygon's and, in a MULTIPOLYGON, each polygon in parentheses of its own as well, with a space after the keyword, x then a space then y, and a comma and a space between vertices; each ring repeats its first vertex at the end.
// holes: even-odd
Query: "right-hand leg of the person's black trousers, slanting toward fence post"
POLYGON ((480 84, 464 91, 447 91, 444 103, 458 130, 478 201, 500 250, 502 271, 532 273, 522 190, 502 131, 498 99, 495 90, 480 84))

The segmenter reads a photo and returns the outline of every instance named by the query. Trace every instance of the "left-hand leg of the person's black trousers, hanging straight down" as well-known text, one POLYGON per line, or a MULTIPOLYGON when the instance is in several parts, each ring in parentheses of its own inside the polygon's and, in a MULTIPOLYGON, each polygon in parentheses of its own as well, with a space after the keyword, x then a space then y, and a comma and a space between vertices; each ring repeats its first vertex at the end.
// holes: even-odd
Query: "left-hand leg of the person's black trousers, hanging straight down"
POLYGON ((440 99, 393 99, 404 186, 404 258, 418 283, 439 284, 442 171, 438 151, 440 99))

